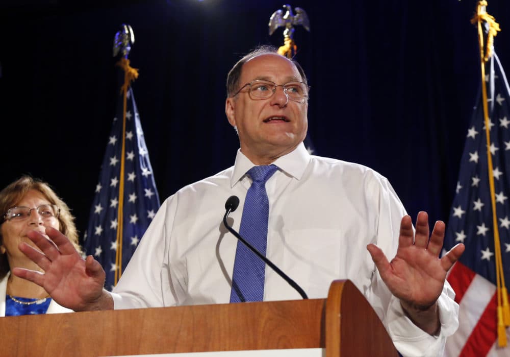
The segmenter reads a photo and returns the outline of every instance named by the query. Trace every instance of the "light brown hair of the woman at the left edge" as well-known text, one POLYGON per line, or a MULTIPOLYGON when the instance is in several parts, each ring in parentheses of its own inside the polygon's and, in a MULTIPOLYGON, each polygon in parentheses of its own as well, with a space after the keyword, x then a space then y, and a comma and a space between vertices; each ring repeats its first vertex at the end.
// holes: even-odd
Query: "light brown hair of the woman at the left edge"
MULTIPOLYGON (((78 231, 74 225, 74 217, 71 215, 69 207, 57 196, 49 184, 31 176, 22 176, 0 191, 0 215, 2 216, 0 224, 4 223, 4 214, 7 210, 16 206, 31 189, 39 191, 50 204, 55 204, 60 208, 60 214, 57 218, 60 224, 59 229, 81 254, 82 249, 78 244, 78 231)), ((4 244, 4 238, 0 230, 0 245, 2 244, 4 244)), ((0 254, 0 279, 9 271, 7 254, 0 254)))

